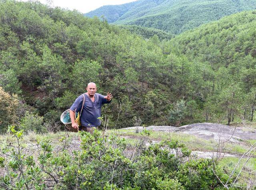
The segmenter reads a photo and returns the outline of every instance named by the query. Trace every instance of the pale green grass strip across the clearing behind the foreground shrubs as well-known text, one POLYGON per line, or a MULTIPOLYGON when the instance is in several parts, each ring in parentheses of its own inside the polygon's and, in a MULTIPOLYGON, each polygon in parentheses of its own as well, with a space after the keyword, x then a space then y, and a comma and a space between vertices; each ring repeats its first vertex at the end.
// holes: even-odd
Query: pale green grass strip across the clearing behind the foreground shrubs
MULTIPOLYGON (((256 123, 250 123, 253 127, 256 127, 256 123)), ((248 125, 247 125, 248 126, 248 125)), ((140 133, 135 133, 134 129, 110 129, 107 133, 116 133, 121 137, 126 137, 128 143, 134 144, 136 143, 136 139, 139 138, 140 133)), ((58 133, 43 133, 43 134, 36 134, 34 132, 29 132, 24 135, 22 139, 22 143, 26 146, 26 143, 29 142, 40 142, 44 139, 51 139, 54 142, 58 142, 64 136, 69 137, 76 137, 78 133, 72 132, 64 132, 60 131, 58 133)), ((189 149, 192 151, 216 151, 217 141, 214 139, 202 139, 196 137, 194 135, 185 134, 185 133, 173 133, 173 132, 163 132, 163 131, 151 131, 149 138, 153 141, 162 141, 162 140, 177 140, 184 143, 189 149)), ((9 143, 16 143, 16 139, 13 138, 9 133, 4 135, 0 135, 0 142, 1 144, 9 144, 9 143)), ((224 152, 242 155, 245 153, 249 147, 256 143, 256 140, 247 140, 247 141, 240 141, 239 143, 225 143, 224 152)), ((256 156, 256 153, 254 154, 256 156)))

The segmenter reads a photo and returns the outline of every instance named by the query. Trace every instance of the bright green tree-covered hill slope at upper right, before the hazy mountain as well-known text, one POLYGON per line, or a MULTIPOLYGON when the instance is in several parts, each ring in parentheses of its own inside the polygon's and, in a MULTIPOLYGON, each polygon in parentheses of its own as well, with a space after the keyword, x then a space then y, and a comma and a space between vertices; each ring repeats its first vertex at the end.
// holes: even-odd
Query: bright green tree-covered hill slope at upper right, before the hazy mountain
MULTIPOLYGON (((214 69, 225 66, 230 72, 236 73, 242 69, 256 68, 255 41, 254 10, 232 14, 186 31, 171 39, 170 44, 191 60, 197 59, 214 69)), ((255 83, 254 80, 251 82, 255 83)))

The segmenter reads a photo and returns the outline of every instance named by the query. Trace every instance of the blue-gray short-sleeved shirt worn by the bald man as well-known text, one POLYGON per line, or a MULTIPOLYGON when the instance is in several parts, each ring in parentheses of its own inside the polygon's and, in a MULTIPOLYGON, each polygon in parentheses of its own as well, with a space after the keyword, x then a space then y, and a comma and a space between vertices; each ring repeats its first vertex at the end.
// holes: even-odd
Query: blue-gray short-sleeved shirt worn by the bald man
MULTIPOLYGON (((82 111, 80 121, 82 126, 86 127, 98 127, 100 125, 101 106, 102 104, 109 104, 111 101, 106 100, 101 94, 95 93, 95 100, 92 100, 84 93, 85 103, 82 111)), ((71 106, 70 110, 74 112, 80 112, 82 109, 83 95, 81 94, 76 98, 76 101, 71 106)))

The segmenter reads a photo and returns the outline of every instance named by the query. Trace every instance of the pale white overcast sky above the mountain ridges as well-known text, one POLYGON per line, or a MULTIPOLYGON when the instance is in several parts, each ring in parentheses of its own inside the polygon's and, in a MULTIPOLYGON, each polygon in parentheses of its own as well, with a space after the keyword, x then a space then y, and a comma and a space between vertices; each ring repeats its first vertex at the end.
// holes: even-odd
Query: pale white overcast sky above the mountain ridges
MULTIPOLYGON (((27 1, 27 0, 22 0, 27 1)), ((46 4, 47 0, 39 0, 46 4)), ((104 5, 120 5, 136 0, 52 0, 54 6, 68 8, 69 10, 79 10, 82 13, 87 13, 104 5)))

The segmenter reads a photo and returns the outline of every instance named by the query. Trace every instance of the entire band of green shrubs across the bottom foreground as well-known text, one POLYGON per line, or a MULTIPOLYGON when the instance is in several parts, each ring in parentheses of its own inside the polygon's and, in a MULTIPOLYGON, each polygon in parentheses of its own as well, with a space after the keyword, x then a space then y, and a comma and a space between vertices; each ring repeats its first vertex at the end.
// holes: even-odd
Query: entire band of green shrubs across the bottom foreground
MULTIPOLYGON (((64 146, 59 152, 54 152, 52 143, 45 140, 40 143, 38 163, 32 155, 24 153, 20 144, 22 131, 15 131, 14 127, 10 131, 18 146, 6 146, 0 151, 0 167, 6 171, 0 176, 0 189, 42 190, 50 186, 55 190, 226 189, 220 183, 228 180, 226 168, 214 166, 210 159, 189 159, 190 150, 178 141, 152 144, 146 130, 133 144, 98 130, 93 134, 83 131, 81 149, 72 153, 66 148, 66 137, 60 139, 64 146)), ((244 188, 236 184, 230 189, 244 188)))

